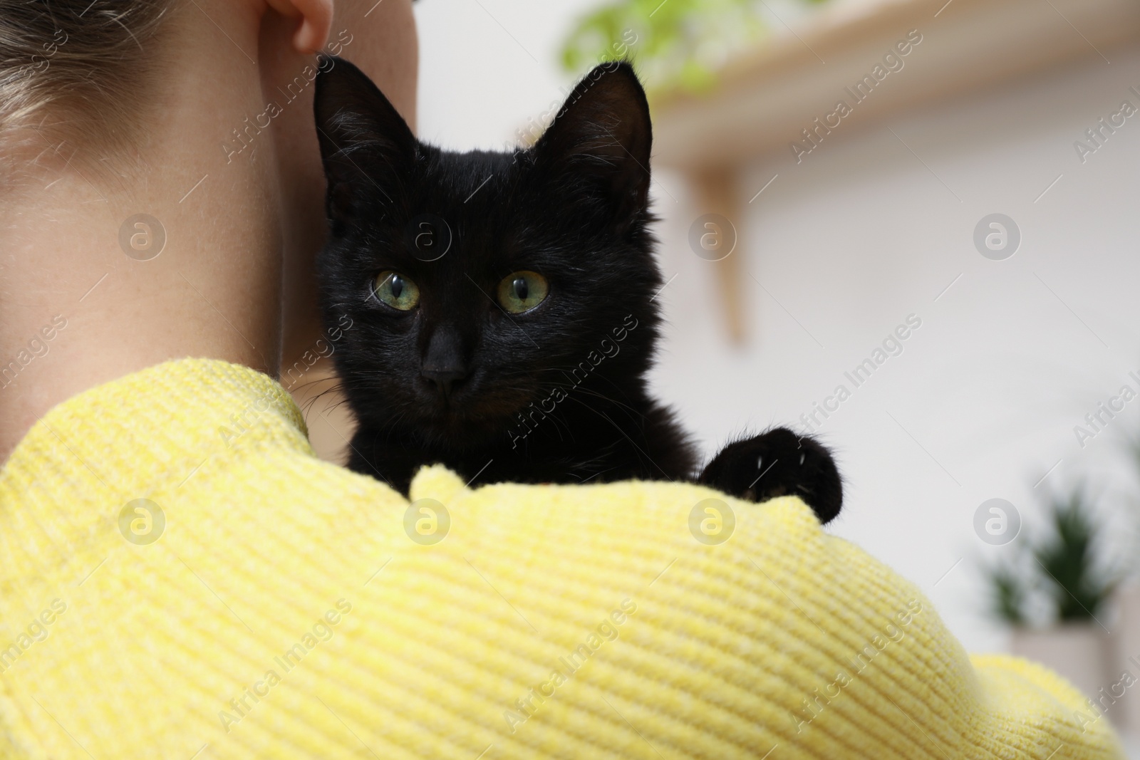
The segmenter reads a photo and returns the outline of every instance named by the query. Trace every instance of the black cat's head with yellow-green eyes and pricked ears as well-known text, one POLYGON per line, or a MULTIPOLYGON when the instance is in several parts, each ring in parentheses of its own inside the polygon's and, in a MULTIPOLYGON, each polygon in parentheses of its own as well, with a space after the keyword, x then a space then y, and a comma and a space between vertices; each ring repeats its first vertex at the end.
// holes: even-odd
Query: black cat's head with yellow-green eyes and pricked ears
MULTIPOLYGON (((318 270, 326 322, 351 320, 333 357, 356 414, 465 448, 598 356, 593 393, 640 392, 661 277, 633 68, 594 68, 528 149, 461 154, 416 140, 367 76, 332 63, 316 82, 329 222, 318 270)), ((564 414, 589 414, 579 395, 564 414)))

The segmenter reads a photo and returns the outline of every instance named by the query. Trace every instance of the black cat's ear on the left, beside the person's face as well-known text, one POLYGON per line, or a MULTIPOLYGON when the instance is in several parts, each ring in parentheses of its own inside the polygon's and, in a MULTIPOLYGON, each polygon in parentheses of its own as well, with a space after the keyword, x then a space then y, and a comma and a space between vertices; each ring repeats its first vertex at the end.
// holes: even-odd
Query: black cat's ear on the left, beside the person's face
POLYGON ((384 93, 343 58, 321 56, 314 113, 335 230, 359 216, 368 199, 391 203, 401 193, 417 142, 384 93))

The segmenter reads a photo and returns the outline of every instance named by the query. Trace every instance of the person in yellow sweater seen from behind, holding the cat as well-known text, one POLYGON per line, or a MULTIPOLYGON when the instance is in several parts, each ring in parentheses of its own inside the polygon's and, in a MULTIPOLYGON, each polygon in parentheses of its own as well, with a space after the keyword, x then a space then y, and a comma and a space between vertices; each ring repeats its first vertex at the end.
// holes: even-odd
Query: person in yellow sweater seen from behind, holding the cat
POLYGON ((317 459, 318 49, 414 123, 408 0, 0 0, 0 755, 1121 757, 798 499, 317 459))

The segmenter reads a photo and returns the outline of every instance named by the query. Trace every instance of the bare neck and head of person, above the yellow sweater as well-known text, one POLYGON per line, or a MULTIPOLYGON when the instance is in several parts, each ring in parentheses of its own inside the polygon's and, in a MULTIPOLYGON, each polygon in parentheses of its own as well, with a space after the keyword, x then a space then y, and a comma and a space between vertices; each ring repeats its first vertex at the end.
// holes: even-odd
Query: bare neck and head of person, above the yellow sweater
POLYGON ((56 403, 166 359, 292 365, 320 337, 309 48, 331 40, 414 124, 409 1, 0 5, 19 56, 0 106, 0 460, 56 403), (161 229, 124 234, 164 237, 148 261, 156 245, 120 245, 144 213, 161 229))

